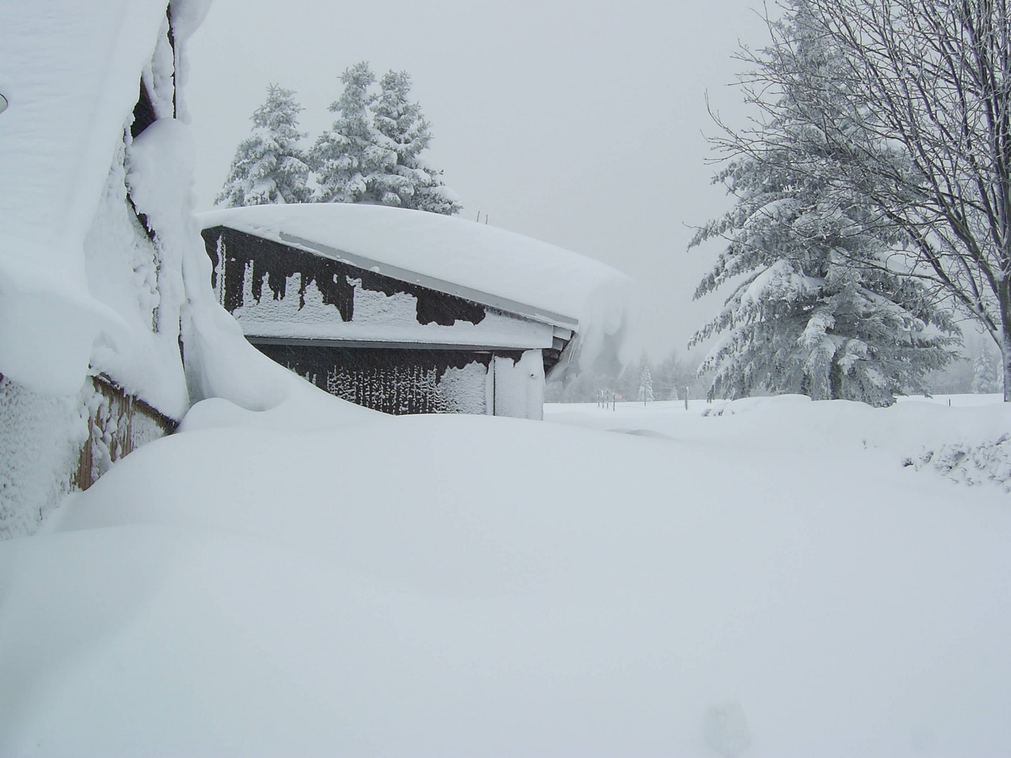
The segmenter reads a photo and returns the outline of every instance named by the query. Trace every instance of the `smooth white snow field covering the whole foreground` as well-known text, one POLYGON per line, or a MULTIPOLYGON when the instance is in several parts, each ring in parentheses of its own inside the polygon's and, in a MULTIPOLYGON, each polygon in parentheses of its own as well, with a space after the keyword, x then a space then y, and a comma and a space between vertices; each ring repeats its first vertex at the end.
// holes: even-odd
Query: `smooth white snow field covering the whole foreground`
POLYGON ((0 543, 0 755, 1007 755, 1008 496, 902 465, 954 405, 205 400, 0 543))

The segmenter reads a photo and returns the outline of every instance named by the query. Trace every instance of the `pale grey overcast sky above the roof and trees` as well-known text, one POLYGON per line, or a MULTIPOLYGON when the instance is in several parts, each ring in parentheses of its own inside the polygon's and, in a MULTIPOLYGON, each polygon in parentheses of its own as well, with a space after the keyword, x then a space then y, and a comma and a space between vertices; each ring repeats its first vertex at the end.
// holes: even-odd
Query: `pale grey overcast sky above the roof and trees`
POLYGON ((722 299, 692 293, 718 250, 690 224, 730 206, 710 185, 706 92, 728 85, 738 41, 765 43, 760 0, 213 0, 190 40, 187 102, 198 208, 211 207, 269 83, 297 92, 307 143, 330 124, 341 72, 407 71, 433 124, 429 162, 483 220, 596 258, 642 287, 646 347, 684 354, 722 299))

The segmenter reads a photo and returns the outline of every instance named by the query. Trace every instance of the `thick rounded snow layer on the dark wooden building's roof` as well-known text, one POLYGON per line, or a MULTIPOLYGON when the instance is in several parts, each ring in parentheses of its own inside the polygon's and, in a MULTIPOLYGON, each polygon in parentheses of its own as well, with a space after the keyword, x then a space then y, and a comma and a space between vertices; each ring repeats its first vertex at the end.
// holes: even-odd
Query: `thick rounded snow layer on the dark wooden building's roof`
POLYGON ((582 331, 615 334, 630 280, 599 261, 512 231, 381 205, 257 205, 198 215, 401 281, 582 331))

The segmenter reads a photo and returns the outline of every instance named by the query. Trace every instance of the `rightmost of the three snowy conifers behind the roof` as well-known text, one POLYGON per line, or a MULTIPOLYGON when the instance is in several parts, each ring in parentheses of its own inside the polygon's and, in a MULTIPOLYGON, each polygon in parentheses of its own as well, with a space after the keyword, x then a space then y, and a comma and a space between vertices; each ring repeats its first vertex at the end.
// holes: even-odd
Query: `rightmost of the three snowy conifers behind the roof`
POLYGON ((376 194, 386 205, 452 215, 461 209, 456 194, 445 186, 442 172, 421 159, 432 141, 421 105, 410 101, 410 75, 389 71, 379 82, 373 104, 374 125, 396 152, 396 162, 377 178, 376 194))

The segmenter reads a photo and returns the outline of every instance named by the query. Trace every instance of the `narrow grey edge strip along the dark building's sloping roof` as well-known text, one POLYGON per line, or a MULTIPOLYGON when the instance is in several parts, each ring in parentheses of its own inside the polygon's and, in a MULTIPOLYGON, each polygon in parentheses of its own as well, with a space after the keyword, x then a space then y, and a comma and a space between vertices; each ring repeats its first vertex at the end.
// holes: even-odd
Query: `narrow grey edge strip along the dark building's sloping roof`
MULTIPOLYGON (((247 233, 255 234, 255 232, 247 233)), ((331 248, 326 245, 320 245, 319 243, 304 240, 294 234, 285 233, 283 231, 280 232, 279 238, 285 245, 305 251, 306 253, 312 253, 324 258, 330 258, 334 261, 356 266, 360 269, 365 269, 366 271, 375 272, 376 274, 382 274, 383 276, 388 276, 391 279, 397 279, 401 282, 417 284, 447 295, 455 295, 456 297, 461 297, 465 300, 470 300, 481 305, 487 305, 491 308, 497 308, 498 310, 503 310, 509 313, 515 313, 534 321, 549 323, 552 326, 560 329, 567 329, 570 333, 578 330, 579 321, 571 316, 555 313, 550 310, 545 310, 544 308, 537 308, 517 300, 511 300, 507 297, 500 297, 488 292, 482 292, 481 290, 474 289, 472 287, 465 287, 461 284, 448 282, 445 279, 439 279, 427 274, 420 274, 408 269, 391 266, 364 256, 355 255, 337 248, 331 248)), ((571 334, 563 339, 567 340, 570 337, 571 334)))

